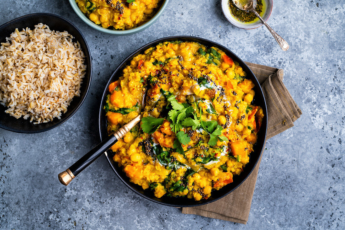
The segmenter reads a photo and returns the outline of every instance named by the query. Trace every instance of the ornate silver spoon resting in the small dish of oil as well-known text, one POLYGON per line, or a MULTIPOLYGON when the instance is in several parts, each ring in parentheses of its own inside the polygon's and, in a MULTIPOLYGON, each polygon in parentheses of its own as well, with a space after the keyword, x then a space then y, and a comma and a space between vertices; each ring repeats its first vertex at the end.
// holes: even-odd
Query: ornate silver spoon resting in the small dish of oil
POLYGON ((289 44, 282 37, 280 37, 278 33, 276 33, 271 27, 269 27, 267 23, 264 21, 264 19, 260 17, 259 13, 256 12, 255 10, 256 0, 232 0, 232 1, 238 9, 253 12, 256 15, 256 17, 258 17, 264 23, 264 25, 267 27, 269 32, 272 33, 274 39, 276 39, 278 45, 280 46, 280 48, 282 48, 282 50, 286 51, 289 49, 289 44))

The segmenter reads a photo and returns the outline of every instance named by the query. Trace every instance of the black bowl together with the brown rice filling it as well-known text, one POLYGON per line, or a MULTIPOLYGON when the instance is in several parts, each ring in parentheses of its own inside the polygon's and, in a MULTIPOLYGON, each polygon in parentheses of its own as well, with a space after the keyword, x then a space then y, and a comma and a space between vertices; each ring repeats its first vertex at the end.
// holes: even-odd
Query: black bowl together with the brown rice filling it
POLYGON ((34 13, 0 26, 0 128, 39 133, 67 121, 91 82, 91 56, 68 20, 34 13))

